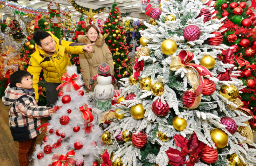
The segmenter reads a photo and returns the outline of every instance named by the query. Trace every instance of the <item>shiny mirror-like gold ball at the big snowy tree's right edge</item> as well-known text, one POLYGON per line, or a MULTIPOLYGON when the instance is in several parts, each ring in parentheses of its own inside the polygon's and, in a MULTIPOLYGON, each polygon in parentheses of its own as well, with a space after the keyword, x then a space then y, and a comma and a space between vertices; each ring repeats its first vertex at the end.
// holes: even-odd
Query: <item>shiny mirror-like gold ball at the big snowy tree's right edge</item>
POLYGON ((224 98, 230 100, 231 102, 233 102, 234 100, 236 100, 239 96, 239 92, 238 89, 236 88, 236 86, 234 85, 223 85, 220 88, 220 95, 223 96, 224 98))

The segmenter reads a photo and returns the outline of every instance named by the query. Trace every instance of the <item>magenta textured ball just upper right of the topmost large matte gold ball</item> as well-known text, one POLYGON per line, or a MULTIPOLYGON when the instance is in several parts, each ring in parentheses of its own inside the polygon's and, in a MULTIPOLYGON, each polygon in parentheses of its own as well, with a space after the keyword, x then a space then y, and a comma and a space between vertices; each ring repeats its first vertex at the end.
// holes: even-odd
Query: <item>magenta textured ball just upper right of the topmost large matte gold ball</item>
POLYGON ((194 41, 201 35, 200 28, 196 25, 188 25, 183 31, 183 36, 188 41, 194 41))

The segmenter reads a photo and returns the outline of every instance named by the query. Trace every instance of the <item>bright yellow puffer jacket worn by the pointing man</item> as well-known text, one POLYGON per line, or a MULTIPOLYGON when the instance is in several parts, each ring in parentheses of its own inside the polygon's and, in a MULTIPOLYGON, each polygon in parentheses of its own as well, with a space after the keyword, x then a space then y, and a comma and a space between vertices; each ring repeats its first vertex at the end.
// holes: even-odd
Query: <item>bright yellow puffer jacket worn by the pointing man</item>
MULTIPOLYGON (((50 33, 50 32, 48 32, 50 33)), ((73 43, 58 39, 50 33, 56 43, 56 51, 50 57, 44 50, 36 45, 36 51, 31 55, 28 72, 33 75, 33 88, 35 89, 35 98, 38 101, 38 81, 41 69, 44 70, 44 79, 47 82, 60 83, 60 77, 66 72, 66 66, 71 65, 68 53, 84 54, 83 47, 86 44, 73 43)))

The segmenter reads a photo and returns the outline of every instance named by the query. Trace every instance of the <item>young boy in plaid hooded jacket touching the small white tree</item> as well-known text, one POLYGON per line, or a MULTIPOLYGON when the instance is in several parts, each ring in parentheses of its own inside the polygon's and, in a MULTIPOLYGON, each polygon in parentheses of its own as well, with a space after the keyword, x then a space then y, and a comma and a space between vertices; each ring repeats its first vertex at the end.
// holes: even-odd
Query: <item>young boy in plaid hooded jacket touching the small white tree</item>
POLYGON ((14 141, 19 142, 18 159, 20 166, 31 166, 32 152, 36 138, 42 132, 36 129, 41 125, 39 117, 53 114, 53 109, 38 106, 31 91, 33 81, 31 74, 18 70, 10 75, 10 84, 7 86, 2 101, 9 108, 9 122, 14 141))

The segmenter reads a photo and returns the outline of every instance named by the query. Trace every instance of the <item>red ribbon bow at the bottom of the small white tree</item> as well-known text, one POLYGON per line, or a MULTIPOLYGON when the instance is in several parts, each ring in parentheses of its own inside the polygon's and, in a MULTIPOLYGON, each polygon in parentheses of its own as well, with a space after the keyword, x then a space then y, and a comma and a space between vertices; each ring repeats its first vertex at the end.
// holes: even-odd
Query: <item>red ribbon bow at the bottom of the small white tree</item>
POLYGON ((76 160, 74 158, 71 158, 75 156, 74 150, 69 150, 67 154, 56 154, 54 153, 52 156, 52 166, 73 166, 76 163, 76 160))

